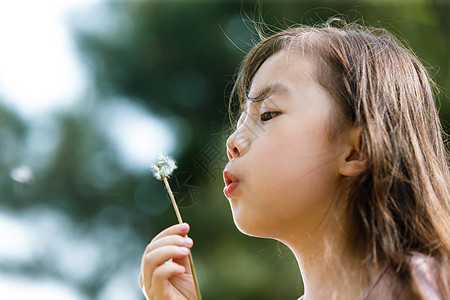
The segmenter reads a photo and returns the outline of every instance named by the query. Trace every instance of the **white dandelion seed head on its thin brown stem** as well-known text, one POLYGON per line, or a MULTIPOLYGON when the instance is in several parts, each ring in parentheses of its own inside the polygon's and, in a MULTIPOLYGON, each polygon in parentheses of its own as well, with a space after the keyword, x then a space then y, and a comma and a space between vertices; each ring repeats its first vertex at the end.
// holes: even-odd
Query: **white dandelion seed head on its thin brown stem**
MULTIPOLYGON (((183 219, 181 218, 180 211, 178 209, 177 202, 175 201, 175 197, 173 196, 172 189, 170 188, 169 178, 173 171, 177 168, 175 160, 170 156, 165 156, 160 154, 159 160, 156 164, 153 165, 153 169, 155 170, 154 175, 157 179, 164 181, 166 185, 167 192, 169 193, 170 200, 172 201, 173 209, 175 210, 175 214, 177 215, 178 223, 183 223, 183 219)), ((195 274, 194 269, 194 260, 192 259, 192 254, 189 252, 189 265, 191 267, 192 279, 194 280, 195 292, 197 294, 197 299, 201 300, 202 296, 200 294, 200 288, 198 286, 197 275, 195 274)))

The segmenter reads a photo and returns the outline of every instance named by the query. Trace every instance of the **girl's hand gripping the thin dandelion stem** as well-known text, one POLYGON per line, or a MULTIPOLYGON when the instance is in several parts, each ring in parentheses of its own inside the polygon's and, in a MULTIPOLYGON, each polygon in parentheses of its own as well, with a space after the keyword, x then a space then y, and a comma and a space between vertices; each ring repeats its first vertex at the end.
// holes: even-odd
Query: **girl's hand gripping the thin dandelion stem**
POLYGON ((193 241, 186 236, 188 232, 188 224, 173 225, 145 248, 139 284, 146 299, 197 298, 188 258, 193 241))

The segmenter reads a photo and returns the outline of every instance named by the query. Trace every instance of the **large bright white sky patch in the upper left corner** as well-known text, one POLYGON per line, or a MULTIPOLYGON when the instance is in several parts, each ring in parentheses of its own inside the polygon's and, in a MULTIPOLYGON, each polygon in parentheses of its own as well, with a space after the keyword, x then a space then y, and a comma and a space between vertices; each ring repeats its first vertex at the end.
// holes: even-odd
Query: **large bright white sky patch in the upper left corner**
POLYGON ((0 96, 9 106, 36 117, 82 95, 86 82, 64 18, 95 1, 0 2, 0 96))

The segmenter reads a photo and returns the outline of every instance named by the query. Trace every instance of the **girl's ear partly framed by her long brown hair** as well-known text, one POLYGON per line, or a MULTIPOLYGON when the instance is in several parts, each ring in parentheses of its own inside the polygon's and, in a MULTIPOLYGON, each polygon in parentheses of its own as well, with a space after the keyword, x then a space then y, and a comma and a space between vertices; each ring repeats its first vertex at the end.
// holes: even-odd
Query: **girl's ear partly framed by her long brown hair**
POLYGON ((344 141, 344 153, 341 156, 339 173, 343 176, 358 176, 367 169, 367 158, 361 150, 361 128, 348 130, 344 141))

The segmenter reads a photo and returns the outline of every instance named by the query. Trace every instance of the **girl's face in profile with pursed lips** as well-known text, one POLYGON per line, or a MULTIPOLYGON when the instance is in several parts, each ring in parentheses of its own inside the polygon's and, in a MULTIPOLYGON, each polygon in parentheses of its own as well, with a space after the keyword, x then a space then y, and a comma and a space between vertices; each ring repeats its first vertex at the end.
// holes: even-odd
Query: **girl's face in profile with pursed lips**
POLYGON ((336 114, 313 79, 314 64, 278 52, 255 74, 237 130, 228 138, 224 171, 233 217, 247 234, 313 234, 337 195, 343 150, 328 129, 336 114))

